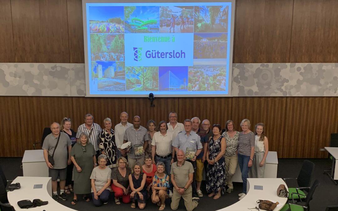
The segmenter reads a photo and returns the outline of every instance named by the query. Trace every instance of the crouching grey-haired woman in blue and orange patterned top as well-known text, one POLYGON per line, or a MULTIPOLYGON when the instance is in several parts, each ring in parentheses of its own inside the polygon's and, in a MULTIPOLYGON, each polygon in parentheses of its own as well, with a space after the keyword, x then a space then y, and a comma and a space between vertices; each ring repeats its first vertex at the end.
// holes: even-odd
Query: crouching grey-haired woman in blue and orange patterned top
POLYGON ((169 194, 169 175, 164 174, 165 164, 158 162, 156 164, 157 174, 152 179, 151 201, 160 206, 159 210, 166 207, 165 200, 169 194))

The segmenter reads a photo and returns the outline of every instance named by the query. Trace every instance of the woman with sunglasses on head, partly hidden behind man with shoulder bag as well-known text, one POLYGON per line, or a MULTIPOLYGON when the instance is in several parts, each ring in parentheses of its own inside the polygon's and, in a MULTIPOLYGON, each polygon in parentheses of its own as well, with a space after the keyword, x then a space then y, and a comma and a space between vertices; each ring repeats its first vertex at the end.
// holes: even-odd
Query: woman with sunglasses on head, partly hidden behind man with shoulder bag
MULTIPOLYGON (((76 133, 74 132, 74 130, 71 129, 71 127, 72 123, 70 121, 70 118, 65 117, 61 120, 60 131, 66 133, 69 136, 70 141, 72 142, 72 147, 74 147, 74 144, 76 143, 76 133)), ((65 186, 65 193, 67 194, 73 192, 72 188, 72 185, 74 184, 74 182, 72 181, 73 168, 74 168, 73 162, 68 163, 66 186, 65 186)))

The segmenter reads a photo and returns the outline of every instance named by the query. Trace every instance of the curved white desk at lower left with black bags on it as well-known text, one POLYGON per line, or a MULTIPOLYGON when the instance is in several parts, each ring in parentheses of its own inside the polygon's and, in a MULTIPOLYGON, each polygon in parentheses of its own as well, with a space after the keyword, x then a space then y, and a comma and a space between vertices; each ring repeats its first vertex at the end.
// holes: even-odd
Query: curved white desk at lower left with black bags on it
POLYGON ((58 202, 52 198, 52 180, 50 177, 17 177, 12 183, 19 182, 21 188, 7 192, 7 197, 10 205, 12 205, 16 211, 26 210, 21 209, 18 206, 18 201, 21 200, 30 200, 41 199, 42 201, 48 201, 47 205, 41 207, 29 208, 31 211, 74 211, 58 202), (42 188, 34 189, 34 185, 42 184, 42 188))

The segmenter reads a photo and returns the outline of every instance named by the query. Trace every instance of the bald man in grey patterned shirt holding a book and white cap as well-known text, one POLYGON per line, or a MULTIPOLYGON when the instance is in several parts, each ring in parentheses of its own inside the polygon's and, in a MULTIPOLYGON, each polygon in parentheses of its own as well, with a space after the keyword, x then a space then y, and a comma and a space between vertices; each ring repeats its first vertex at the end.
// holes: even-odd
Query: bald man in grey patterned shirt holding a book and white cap
POLYGON ((149 136, 147 129, 140 125, 141 119, 139 116, 134 116, 133 126, 126 129, 124 132, 123 142, 131 142, 131 149, 127 151, 129 167, 139 162, 144 164, 144 152, 148 147, 149 136))

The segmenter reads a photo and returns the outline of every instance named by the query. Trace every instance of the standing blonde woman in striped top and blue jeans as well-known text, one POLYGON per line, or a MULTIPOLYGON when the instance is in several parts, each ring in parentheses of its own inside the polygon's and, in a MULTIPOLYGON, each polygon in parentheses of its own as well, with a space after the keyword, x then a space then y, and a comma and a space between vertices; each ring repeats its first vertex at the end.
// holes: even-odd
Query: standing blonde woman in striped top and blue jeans
POLYGON ((255 134, 250 130, 250 121, 244 119, 241 122, 242 132, 238 138, 238 163, 242 173, 243 193, 238 194, 239 200, 246 195, 246 179, 249 168, 252 166, 252 159, 255 153, 255 134))

